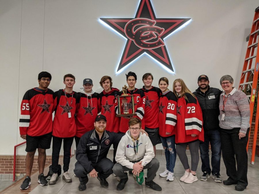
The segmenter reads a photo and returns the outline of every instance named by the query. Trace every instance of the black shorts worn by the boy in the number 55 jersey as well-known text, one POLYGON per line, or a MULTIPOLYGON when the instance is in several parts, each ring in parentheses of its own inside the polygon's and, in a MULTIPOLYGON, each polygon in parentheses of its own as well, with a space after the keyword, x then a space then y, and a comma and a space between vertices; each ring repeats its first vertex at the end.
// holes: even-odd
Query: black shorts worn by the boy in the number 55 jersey
POLYGON ((52 139, 52 133, 47 133, 41 136, 26 135, 26 152, 35 151, 37 148, 49 149, 52 139))

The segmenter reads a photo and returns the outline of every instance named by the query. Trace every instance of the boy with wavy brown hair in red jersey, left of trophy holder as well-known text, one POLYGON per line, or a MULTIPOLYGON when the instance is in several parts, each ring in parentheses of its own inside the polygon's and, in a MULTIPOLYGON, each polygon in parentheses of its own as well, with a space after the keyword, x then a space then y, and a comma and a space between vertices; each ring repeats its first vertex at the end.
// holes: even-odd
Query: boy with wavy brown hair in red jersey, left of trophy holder
MULTIPOLYGON (((121 93, 119 89, 113 88, 112 78, 110 76, 102 76, 100 85, 103 91, 99 94, 99 106, 101 108, 101 114, 107 119, 106 130, 110 132, 119 132, 119 117, 116 117, 117 110, 117 98, 121 93)), ((113 144, 113 163, 115 164, 115 155, 118 144, 113 144)))

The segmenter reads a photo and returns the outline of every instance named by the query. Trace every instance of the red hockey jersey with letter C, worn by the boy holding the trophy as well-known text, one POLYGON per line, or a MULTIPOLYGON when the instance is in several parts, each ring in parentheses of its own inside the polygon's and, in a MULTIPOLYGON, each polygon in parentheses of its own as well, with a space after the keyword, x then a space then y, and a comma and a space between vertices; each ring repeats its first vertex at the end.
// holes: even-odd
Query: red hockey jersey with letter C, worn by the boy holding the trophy
MULTIPOLYGON (((134 98, 135 113, 137 114, 137 117, 142 120, 141 128, 145 129, 145 124, 144 124, 145 95, 144 95, 144 92, 140 89, 135 88, 132 91, 127 90, 127 95, 134 96, 133 98, 134 98)), ((129 103, 129 114, 132 114, 131 97, 127 97, 126 99, 127 99, 127 103, 129 103)), ((122 107, 121 107, 121 112, 123 112, 122 107)), ((120 132, 125 133, 127 130, 129 130, 129 120, 121 117, 120 132)))

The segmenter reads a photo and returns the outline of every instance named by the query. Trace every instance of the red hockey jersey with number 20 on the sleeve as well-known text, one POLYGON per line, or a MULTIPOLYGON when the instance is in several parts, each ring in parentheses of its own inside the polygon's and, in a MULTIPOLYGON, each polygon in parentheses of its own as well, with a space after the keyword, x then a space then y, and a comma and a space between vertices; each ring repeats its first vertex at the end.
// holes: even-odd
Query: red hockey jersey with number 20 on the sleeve
POLYGON ((172 91, 167 91, 159 99, 159 135, 170 137, 175 135, 177 122, 177 98, 172 91), (166 132, 171 133, 165 135, 166 132))

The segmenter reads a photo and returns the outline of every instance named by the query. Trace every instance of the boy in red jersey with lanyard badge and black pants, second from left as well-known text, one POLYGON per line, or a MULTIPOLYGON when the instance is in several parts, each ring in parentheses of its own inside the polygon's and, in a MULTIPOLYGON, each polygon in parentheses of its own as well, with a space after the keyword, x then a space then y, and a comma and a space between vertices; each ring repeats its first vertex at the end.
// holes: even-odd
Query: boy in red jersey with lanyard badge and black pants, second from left
POLYGON ((66 183, 72 182, 68 167, 70 163, 70 149, 76 134, 75 112, 78 103, 78 94, 73 91, 75 76, 64 75, 65 89, 60 89, 54 93, 55 117, 53 121, 53 142, 52 142, 52 171, 53 175, 49 180, 49 185, 54 185, 58 179, 58 159, 63 140, 64 159, 62 179, 66 183))

